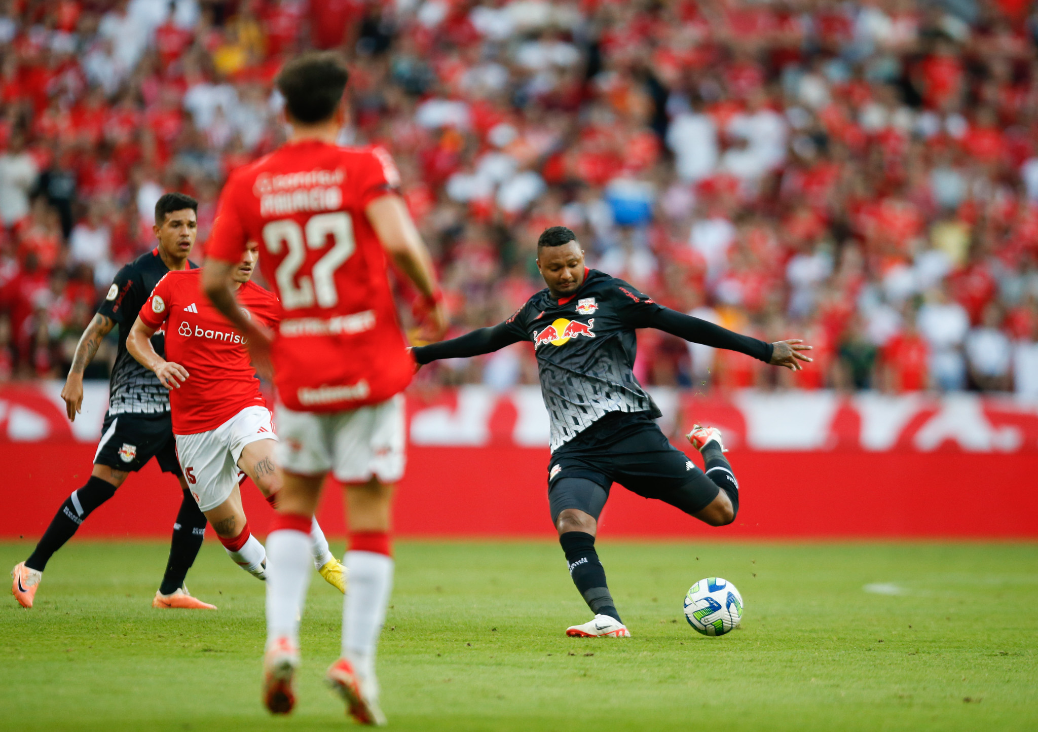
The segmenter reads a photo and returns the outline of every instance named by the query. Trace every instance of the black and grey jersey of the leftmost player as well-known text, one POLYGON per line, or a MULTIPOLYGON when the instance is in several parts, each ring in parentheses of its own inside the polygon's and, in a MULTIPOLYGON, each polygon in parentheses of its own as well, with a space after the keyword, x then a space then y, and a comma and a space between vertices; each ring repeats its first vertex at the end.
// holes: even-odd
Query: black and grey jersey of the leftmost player
MULTIPOLYGON (((190 262, 188 266, 195 268, 190 262)), ((127 350, 127 336, 141 306, 168 271, 157 248, 141 254, 118 271, 98 308, 100 315, 111 318, 119 326, 119 348, 108 386, 109 414, 169 411, 169 390, 127 350)), ((160 356, 165 353, 165 331, 162 330, 152 336, 152 345, 160 356)))

